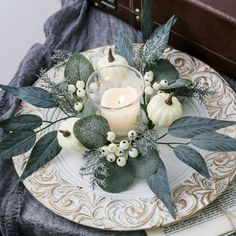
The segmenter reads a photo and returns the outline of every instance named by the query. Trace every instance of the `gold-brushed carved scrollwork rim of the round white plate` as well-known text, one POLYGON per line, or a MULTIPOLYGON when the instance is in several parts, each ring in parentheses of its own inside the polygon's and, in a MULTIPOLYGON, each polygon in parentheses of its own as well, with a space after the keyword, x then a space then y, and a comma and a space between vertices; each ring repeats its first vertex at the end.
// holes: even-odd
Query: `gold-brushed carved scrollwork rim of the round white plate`
MULTIPOLYGON (((104 55, 108 47, 90 50, 84 53, 93 64, 98 56, 104 55)), ((229 85, 208 65, 185 53, 168 48, 164 58, 176 66, 182 78, 198 80, 201 85, 209 87, 216 93, 207 98, 204 105, 210 117, 236 120, 236 97, 229 85)), ((55 80, 63 79, 64 68, 50 70, 49 76, 55 80)), ((40 86, 40 81, 36 86, 40 86)), ((22 103, 20 113, 34 113, 44 116, 43 109, 22 103)), ((236 127, 223 130, 236 137, 236 127)), ((29 154, 14 157, 15 169, 20 175, 29 154)), ((207 180, 198 173, 179 183, 172 190, 177 209, 176 220, 190 216, 202 209, 226 188, 236 174, 235 153, 207 153, 205 155, 211 179, 207 180)), ((165 206, 154 197, 119 199, 111 194, 88 191, 82 185, 67 182, 60 172, 50 163, 40 168, 24 181, 26 188, 43 205, 54 213, 76 223, 111 230, 138 230, 158 227, 171 222, 165 206)))

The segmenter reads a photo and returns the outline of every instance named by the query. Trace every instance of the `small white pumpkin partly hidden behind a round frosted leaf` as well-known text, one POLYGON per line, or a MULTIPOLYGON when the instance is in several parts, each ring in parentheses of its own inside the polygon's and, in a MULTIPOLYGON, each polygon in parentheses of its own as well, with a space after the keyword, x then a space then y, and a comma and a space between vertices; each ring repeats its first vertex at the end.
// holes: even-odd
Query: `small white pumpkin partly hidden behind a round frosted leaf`
POLYGON ((58 128, 58 144, 65 150, 75 152, 82 152, 85 150, 85 147, 79 142, 73 133, 74 124, 78 120, 79 118, 75 117, 68 118, 61 122, 58 128))

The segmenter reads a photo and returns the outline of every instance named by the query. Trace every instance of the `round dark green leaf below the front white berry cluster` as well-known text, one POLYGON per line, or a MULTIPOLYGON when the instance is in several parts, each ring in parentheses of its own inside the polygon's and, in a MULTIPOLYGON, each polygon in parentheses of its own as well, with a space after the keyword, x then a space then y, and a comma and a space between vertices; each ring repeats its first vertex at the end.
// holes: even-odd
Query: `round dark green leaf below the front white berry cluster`
POLYGON ((132 171, 129 163, 124 167, 120 167, 116 162, 108 162, 104 160, 104 166, 107 169, 107 175, 96 174, 95 176, 100 181, 97 184, 106 192, 119 193, 127 190, 130 185, 134 182, 135 177, 132 175, 132 171))

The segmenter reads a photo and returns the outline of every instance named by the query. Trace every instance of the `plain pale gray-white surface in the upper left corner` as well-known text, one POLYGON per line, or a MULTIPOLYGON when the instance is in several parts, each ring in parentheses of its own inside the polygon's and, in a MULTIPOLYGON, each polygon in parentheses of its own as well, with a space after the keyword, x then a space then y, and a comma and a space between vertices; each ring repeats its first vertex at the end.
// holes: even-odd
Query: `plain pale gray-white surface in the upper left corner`
POLYGON ((29 48, 44 42, 44 22, 60 5, 60 0, 0 0, 0 83, 9 83, 29 48))

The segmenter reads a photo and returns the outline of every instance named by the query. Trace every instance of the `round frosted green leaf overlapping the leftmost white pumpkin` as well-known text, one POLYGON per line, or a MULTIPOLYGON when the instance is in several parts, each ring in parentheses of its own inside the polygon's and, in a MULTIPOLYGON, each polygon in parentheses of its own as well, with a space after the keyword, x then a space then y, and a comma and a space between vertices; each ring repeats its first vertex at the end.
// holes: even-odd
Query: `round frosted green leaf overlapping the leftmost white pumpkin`
POLYGON ((109 124, 98 115, 87 116, 74 125, 75 137, 88 149, 96 149, 107 143, 109 124))

